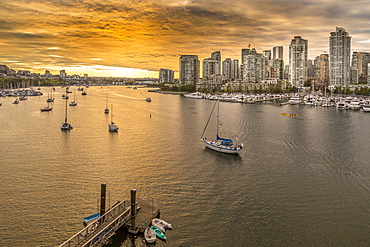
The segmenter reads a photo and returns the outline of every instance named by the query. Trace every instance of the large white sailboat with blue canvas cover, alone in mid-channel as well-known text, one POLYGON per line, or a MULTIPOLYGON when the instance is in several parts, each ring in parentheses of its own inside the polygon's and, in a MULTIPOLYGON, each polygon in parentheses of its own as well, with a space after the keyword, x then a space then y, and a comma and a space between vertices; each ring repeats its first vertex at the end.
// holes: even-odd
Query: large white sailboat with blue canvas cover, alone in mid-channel
POLYGON ((211 115, 208 118, 207 124, 203 130, 202 136, 201 136, 201 141, 206 145, 207 148, 220 152, 220 153, 225 153, 225 154, 238 154, 240 150, 243 149, 243 143, 241 144, 234 144, 234 141, 230 138, 222 138, 220 137, 220 101, 217 100, 215 105, 213 106, 213 109, 211 111, 211 115), (212 113, 215 109, 216 104, 218 105, 218 113, 217 113, 217 133, 216 133, 216 139, 215 140, 208 140, 206 137, 203 138, 204 132, 207 129, 208 123, 210 118, 212 117, 212 113))

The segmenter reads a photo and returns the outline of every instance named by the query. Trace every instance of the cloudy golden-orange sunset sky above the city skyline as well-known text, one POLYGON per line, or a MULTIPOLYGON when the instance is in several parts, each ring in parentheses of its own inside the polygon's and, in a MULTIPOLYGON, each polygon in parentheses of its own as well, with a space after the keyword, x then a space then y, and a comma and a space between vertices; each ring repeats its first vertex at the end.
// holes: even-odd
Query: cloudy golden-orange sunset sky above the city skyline
MULTIPOLYGON (((92 76, 158 77, 180 55, 239 59, 308 39, 309 58, 343 27, 370 52, 368 0, 1 0, 0 64, 92 76)), ((177 73, 175 73, 177 77, 177 73)))

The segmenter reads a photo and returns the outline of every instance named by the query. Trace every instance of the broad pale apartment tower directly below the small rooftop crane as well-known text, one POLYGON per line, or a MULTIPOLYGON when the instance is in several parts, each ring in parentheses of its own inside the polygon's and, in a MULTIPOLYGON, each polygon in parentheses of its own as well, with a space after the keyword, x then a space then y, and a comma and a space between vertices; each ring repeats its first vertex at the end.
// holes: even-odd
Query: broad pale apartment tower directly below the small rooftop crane
POLYGON ((255 48, 242 50, 242 79, 244 82, 261 82, 265 78, 264 55, 257 53, 255 48))

